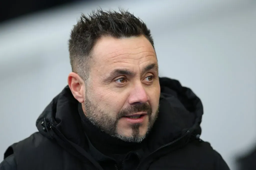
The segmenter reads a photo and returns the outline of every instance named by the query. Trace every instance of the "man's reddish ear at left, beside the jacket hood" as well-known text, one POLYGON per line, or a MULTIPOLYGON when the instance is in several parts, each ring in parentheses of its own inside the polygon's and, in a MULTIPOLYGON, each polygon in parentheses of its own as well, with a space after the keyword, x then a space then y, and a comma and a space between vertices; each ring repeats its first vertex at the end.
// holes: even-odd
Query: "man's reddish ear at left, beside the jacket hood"
POLYGON ((85 97, 85 84, 83 79, 77 73, 71 72, 68 75, 68 86, 74 98, 77 99, 78 102, 83 103, 85 97))

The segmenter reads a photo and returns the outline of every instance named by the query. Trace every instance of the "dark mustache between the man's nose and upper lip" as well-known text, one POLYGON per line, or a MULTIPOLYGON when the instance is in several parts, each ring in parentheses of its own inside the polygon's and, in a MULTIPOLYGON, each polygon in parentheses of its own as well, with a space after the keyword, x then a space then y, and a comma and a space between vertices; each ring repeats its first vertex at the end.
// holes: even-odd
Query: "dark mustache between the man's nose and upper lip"
POLYGON ((137 112, 146 112, 147 114, 150 115, 152 113, 152 109, 151 109, 150 105, 147 103, 130 105, 119 112, 118 118, 120 119, 123 116, 131 116, 137 112))

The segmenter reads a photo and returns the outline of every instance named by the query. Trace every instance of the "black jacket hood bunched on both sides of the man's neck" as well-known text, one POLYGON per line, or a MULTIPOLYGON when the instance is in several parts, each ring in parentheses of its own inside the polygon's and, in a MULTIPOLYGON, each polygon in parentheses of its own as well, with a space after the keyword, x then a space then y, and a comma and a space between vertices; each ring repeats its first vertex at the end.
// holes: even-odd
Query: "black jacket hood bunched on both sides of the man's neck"
MULTIPOLYGON (((166 77, 159 78, 161 95, 159 115, 148 135, 152 150, 171 142, 187 129, 198 137, 201 134, 200 123, 203 106, 200 99, 179 81, 166 77)), ((86 142, 81 117, 78 113, 78 101, 66 86, 45 108, 36 121, 39 132, 47 138, 59 136, 72 145, 81 146, 86 142), (50 129, 54 128, 54 135, 50 129), (56 135, 57 134, 57 135, 56 135)), ((151 149, 150 149, 151 150, 151 149)))

